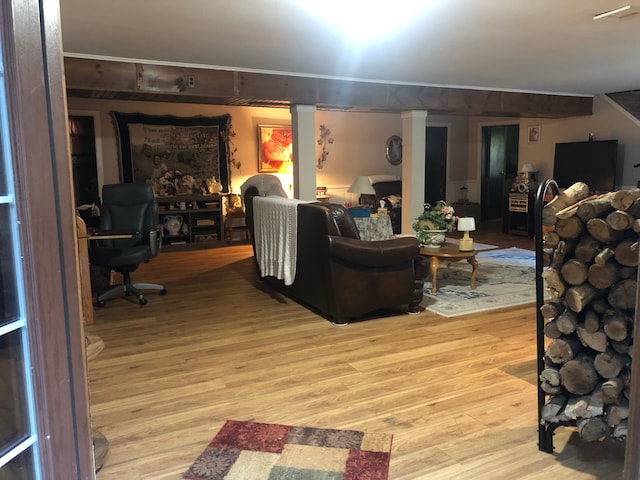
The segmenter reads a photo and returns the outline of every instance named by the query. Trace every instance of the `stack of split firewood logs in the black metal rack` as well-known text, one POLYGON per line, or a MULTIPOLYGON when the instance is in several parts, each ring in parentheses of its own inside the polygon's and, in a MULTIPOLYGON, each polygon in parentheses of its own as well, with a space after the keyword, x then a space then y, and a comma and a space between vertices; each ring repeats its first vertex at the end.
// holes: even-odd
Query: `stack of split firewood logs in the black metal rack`
POLYGON ((640 189, 590 195, 576 183, 543 209, 547 424, 586 441, 626 438, 640 232, 640 189))

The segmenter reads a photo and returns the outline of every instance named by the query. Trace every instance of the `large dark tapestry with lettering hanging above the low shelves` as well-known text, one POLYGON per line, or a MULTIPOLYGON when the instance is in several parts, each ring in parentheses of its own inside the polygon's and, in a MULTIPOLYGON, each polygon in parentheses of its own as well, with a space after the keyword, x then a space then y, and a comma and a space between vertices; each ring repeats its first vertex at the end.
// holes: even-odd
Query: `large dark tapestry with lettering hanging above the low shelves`
POLYGON ((124 183, 157 183, 163 176, 215 179, 229 191, 230 115, 175 117, 110 112, 119 142, 124 183))

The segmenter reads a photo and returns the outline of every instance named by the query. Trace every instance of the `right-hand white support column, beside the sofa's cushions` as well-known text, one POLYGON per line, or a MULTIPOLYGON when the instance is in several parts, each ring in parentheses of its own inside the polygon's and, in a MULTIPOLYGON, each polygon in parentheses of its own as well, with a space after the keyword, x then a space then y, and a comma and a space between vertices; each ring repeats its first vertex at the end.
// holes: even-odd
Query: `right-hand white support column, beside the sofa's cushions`
POLYGON ((424 210, 424 159, 427 112, 402 112, 402 233, 424 210))

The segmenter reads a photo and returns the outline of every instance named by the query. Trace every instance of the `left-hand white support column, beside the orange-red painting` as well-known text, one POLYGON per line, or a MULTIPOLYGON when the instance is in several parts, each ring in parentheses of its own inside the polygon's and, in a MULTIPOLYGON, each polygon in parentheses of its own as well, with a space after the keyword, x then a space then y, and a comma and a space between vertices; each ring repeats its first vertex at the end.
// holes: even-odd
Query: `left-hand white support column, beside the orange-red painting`
POLYGON ((293 132, 293 196, 316 199, 316 107, 291 106, 293 132))

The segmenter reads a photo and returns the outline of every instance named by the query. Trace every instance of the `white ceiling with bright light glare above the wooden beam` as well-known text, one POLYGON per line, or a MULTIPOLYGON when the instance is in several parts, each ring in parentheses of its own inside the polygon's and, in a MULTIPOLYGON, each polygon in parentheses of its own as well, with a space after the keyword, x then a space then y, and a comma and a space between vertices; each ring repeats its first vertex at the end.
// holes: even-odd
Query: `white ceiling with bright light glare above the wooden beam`
MULTIPOLYGON (((63 49, 385 83, 569 95, 640 89, 640 13, 593 20, 624 0, 422 2, 430 6, 395 34, 357 47, 296 0, 60 0, 63 49)), ((394 22, 399 12, 386 4, 394 22)))

